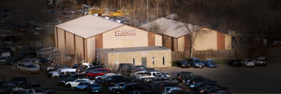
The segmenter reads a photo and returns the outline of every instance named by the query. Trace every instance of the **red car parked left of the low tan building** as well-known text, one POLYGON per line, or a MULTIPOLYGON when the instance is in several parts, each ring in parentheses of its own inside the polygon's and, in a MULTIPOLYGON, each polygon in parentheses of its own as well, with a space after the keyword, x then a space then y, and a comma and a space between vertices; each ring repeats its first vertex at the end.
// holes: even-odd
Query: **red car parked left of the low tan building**
POLYGON ((89 72, 86 75, 89 75, 90 77, 96 77, 96 76, 103 76, 103 74, 107 74, 110 71, 108 69, 93 69, 91 72, 89 72))

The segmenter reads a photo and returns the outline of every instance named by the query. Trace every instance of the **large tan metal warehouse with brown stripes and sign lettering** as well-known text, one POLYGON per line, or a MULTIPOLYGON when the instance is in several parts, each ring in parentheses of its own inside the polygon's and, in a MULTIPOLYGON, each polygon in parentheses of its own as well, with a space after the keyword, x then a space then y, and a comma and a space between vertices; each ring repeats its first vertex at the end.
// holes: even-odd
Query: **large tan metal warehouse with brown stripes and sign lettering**
MULTIPOLYGON (((94 62, 96 49, 162 46, 162 35, 85 15, 55 26, 55 46, 66 54, 78 55, 86 62, 94 62)), ((171 50, 166 53, 170 55, 165 61, 171 63, 171 50)), ((105 60, 102 62, 105 63, 105 60)), ((133 60, 130 62, 133 63, 133 60)))

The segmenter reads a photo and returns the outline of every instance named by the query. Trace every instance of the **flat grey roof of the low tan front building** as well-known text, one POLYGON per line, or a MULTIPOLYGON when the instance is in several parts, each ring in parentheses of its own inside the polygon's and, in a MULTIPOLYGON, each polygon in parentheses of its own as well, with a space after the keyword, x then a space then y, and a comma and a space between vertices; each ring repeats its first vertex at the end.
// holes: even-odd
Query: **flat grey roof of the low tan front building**
POLYGON ((148 47, 131 47, 131 48, 104 48, 99 49, 105 51, 106 53, 124 53, 124 52, 136 52, 136 51, 166 51, 169 48, 164 48, 162 46, 148 46, 148 47))

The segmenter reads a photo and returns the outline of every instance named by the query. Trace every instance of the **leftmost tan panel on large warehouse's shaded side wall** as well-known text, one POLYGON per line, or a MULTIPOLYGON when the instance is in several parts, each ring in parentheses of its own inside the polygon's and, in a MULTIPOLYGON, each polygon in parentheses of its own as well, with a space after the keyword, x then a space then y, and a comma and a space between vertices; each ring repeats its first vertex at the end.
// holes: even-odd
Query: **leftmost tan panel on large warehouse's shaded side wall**
POLYGON ((58 48, 65 51, 65 30, 58 28, 58 48))

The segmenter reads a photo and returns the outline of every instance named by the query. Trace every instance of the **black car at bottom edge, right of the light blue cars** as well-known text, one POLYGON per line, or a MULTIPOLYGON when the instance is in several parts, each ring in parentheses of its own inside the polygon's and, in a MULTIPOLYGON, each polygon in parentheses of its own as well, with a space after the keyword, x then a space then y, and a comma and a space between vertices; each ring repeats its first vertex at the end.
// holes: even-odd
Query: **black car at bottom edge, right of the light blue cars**
POLYGON ((131 84, 126 84, 124 86, 122 86, 122 88, 116 88, 116 92, 117 94, 119 93, 130 93, 133 90, 142 90, 143 88, 141 88, 141 84, 139 83, 131 83, 131 84))

